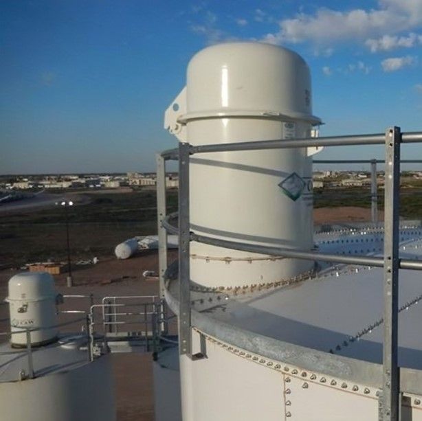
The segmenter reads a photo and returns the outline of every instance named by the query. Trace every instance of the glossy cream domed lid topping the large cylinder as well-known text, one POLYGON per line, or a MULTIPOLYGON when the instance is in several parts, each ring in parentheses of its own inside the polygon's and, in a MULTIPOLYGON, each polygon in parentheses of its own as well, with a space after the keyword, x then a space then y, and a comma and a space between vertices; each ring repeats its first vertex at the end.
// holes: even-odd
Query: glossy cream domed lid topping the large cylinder
POLYGON ((256 42, 212 45, 190 60, 186 86, 186 114, 178 118, 182 124, 217 117, 321 122, 312 114, 309 67, 284 47, 256 42))

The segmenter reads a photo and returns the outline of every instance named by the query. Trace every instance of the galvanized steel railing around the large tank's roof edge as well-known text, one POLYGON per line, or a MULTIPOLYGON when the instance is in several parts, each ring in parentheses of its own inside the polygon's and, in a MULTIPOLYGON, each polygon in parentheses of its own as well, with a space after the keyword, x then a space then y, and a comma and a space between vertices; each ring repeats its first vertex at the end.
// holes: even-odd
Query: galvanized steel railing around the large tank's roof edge
MULTIPOLYGON (((179 234, 179 352, 191 354, 191 327, 195 323, 206 326, 208 321, 203 321, 201 315, 194 313, 192 317, 190 301, 190 241, 203 242, 219 247, 263 253, 268 255, 280 255, 290 258, 305 260, 323 260, 328 262, 370 264, 384 267, 384 343, 383 343, 383 370, 382 383, 379 385, 382 393, 379 396, 379 419, 396 421, 399 418, 399 394, 400 380, 397 361, 398 354, 398 279, 399 269, 422 270, 422 262, 399 259, 399 177, 400 177, 400 152, 401 144, 422 142, 422 132, 401 133, 400 128, 392 127, 385 134, 353 135, 319 137, 307 139, 276 139, 268 141, 247 141, 231 144, 210 144, 192 146, 188 143, 180 143, 178 149, 166 150, 157 154, 157 220, 159 235, 159 288, 160 295, 164 297, 164 277, 167 268, 167 231, 179 234), (190 155, 206 152, 229 152, 245 150, 264 150, 279 148, 305 148, 310 146, 350 146, 384 144, 386 153, 385 168, 385 200, 384 200, 384 258, 370 258, 366 255, 341 256, 329 253, 317 253, 313 251, 292 251, 278 247, 265 247, 240 242, 231 242, 199 236, 190 231, 189 214, 189 161, 190 155), (179 229, 172 227, 166 218, 166 161, 179 161, 179 229)), ((371 194, 373 196, 372 218, 376 221, 376 163, 371 163, 372 182, 371 194)), ((378 161, 379 162, 379 161, 378 161)), ((213 326, 208 323, 209 330, 213 326)), ((214 327, 215 328, 215 327, 214 327)), ((214 329, 215 330, 215 329, 214 329)), ((219 326, 219 332, 230 331, 230 326, 219 326)), ((211 334, 211 332, 210 332, 211 334)), ((227 333, 233 345, 240 348, 247 345, 242 338, 247 332, 236 335, 234 332, 227 333), (234 343, 236 342, 236 343, 234 343)), ((303 355, 303 347, 293 344, 285 344, 278 341, 279 346, 294 348, 303 355)), ((309 350, 309 354, 313 351, 309 350)), ((335 358, 331 354, 329 359, 335 358)), ((325 359, 322 358, 322 367, 325 359)), ((359 369, 364 367, 365 377, 373 372, 373 363, 359 362, 359 369)), ((352 364, 353 365, 353 364, 352 364)), ((374 365, 375 366, 375 365, 374 365)), ((409 373, 409 383, 414 379, 414 373, 409 373)))

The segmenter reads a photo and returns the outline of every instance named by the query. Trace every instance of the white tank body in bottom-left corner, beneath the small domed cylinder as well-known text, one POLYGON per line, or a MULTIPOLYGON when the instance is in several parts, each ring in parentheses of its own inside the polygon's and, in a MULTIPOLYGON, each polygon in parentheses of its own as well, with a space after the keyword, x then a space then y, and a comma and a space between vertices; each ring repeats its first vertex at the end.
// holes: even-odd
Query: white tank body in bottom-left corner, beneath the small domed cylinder
MULTIPOLYGON (((26 370, 25 354, 13 356, 0 376, 2 420, 115 421, 111 356, 92 363, 86 351, 47 345, 34 353, 35 378, 11 380, 26 370), (12 372, 12 369, 17 369, 12 372)), ((7 352, 0 346, 0 352, 7 352)), ((10 350, 9 350, 10 354, 10 350)), ((1 356, 1 362, 7 359, 1 356)), ((9 355, 10 359, 10 355, 9 355)))

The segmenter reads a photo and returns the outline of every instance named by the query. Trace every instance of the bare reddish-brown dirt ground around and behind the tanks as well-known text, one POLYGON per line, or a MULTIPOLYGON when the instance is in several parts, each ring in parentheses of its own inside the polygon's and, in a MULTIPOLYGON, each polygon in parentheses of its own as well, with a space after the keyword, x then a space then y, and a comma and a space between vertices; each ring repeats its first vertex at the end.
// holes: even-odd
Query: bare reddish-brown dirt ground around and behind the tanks
MULTIPOLYGON (((314 211, 314 223, 339 223, 370 219, 370 209, 359 207, 320 208, 314 211)), ((381 220, 381 214, 379 216, 381 220)), ((169 252, 174 260, 176 251, 169 252)), ((157 295, 157 280, 146 280, 142 273, 157 271, 157 253, 148 251, 128 260, 114 256, 102 258, 96 265, 80 266, 74 270, 74 286, 67 288, 64 275, 56 276, 58 291, 62 294, 89 295, 157 295)), ((0 271, 0 297, 6 297, 8 280, 18 271, 0 271)), ((65 302, 65 308, 83 306, 82 301, 65 302)), ((0 319, 8 317, 8 306, 0 306, 0 319)), ((1 326, 0 330, 7 330, 1 326)), ((113 354, 115 396, 118 421, 153 421, 153 372, 151 354, 113 354)))

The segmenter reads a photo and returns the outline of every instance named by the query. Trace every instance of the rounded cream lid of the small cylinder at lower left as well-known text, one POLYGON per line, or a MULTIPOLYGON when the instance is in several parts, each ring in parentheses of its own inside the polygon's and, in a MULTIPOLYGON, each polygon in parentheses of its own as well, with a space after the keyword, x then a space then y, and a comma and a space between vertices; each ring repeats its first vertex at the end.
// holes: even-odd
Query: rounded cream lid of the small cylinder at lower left
POLYGON ((41 300, 56 297, 54 278, 47 272, 25 272, 9 280, 9 296, 6 301, 41 300))

